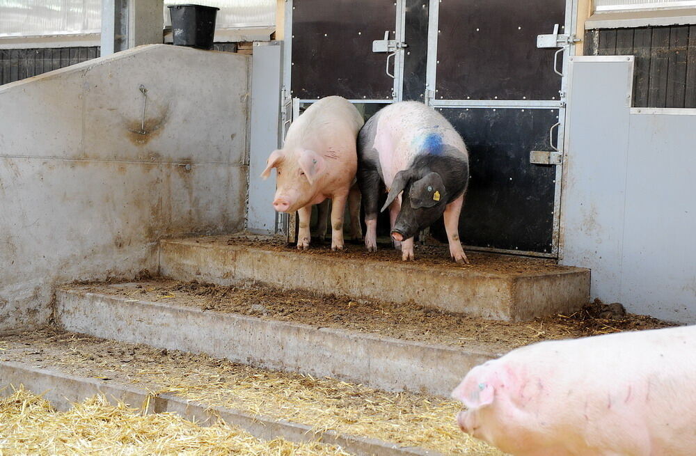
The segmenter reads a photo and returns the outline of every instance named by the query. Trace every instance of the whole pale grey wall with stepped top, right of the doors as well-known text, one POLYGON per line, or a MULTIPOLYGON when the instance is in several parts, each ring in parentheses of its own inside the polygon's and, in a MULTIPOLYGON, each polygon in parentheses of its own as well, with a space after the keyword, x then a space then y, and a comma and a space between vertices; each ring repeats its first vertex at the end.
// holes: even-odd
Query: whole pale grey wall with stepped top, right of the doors
POLYGON ((696 109, 631 108, 633 57, 574 57, 562 262, 592 297, 696 322, 696 109))

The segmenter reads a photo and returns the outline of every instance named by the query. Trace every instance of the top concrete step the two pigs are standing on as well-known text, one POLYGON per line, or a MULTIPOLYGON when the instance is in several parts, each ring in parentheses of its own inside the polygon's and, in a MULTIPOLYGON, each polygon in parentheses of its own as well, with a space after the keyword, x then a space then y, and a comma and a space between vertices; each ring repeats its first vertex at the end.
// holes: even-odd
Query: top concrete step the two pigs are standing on
POLYGON ((589 269, 511 255, 468 257, 470 265, 457 265, 446 246, 418 247, 415 262, 402 262, 393 249, 297 251, 272 238, 228 235, 161 241, 160 272, 183 281, 257 281, 505 321, 568 314, 589 300, 589 269))

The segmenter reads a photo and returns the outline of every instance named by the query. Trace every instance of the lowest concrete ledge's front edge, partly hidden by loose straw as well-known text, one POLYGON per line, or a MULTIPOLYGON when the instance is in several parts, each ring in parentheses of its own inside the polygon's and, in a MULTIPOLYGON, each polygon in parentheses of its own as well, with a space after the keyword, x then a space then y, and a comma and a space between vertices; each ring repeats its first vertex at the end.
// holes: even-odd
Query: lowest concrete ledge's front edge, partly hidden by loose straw
MULTIPOLYGON (((331 430, 317 432, 308 425, 291 423, 285 420, 273 420, 260 415, 250 415, 225 407, 209 407, 198 402, 191 402, 173 395, 152 395, 143 388, 109 384, 97 379, 76 377, 55 370, 33 368, 24 363, 0 362, 0 388, 9 385, 24 385, 33 393, 45 393, 44 398, 61 411, 70 409, 73 402, 79 402, 102 393, 111 402, 119 400, 131 407, 144 407, 150 398, 148 413, 172 412, 201 425, 212 425, 222 418, 230 425, 237 425, 259 439, 271 440, 283 437, 294 442, 320 441, 338 445, 349 453, 356 455, 433 455, 438 453, 421 448, 400 448, 399 446, 365 437, 340 434, 331 430)), ((0 394, 12 394, 12 388, 5 388, 0 394)))

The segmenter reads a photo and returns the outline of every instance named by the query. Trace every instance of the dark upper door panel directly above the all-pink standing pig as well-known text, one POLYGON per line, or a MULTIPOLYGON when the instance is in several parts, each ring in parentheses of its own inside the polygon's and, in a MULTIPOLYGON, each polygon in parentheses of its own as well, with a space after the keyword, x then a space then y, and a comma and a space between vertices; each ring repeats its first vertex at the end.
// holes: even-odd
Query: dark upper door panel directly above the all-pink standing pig
POLYGON ((292 97, 392 98, 386 54, 372 52, 384 31, 394 39, 393 0, 294 0, 292 97))

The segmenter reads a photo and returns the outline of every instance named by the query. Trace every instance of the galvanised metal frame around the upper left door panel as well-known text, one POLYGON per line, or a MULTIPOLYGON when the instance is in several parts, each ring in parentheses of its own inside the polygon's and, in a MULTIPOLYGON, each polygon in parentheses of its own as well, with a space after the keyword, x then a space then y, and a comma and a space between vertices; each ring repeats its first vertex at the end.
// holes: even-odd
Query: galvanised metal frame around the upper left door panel
MULTIPOLYGON (((394 4, 396 6, 396 16, 395 20, 395 40, 403 42, 404 41, 404 24, 406 22, 406 9, 404 8, 404 2, 406 0, 395 0, 394 4)), ((287 133, 287 127, 290 126, 292 120, 297 118, 300 113, 300 104, 309 104, 316 102, 314 99, 301 99, 292 97, 291 90, 291 76, 292 76, 292 10, 294 10, 292 0, 285 0, 285 36, 283 40, 285 41, 285 46, 283 47, 283 77, 282 77, 282 87, 280 89, 280 122, 282 123, 280 127, 280 146, 283 146, 285 142, 285 134, 287 133)), ((379 36, 375 36, 374 40, 379 40, 379 36)), ((394 56, 394 84, 392 89, 391 98, 386 98, 384 100, 368 100, 367 98, 358 100, 348 100, 351 103, 394 103, 402 100, 403 88, 404 88, 404 49, 397 49, 394 56)), ((385 54, 385 60, 387 60, 387 54, 385 54)), ((385 66, 387 63, 385 62, 385 66)), ((289 242, 294 242, 296 240, 295 233, 295 214, 283 214, 281 212, 276 212, 276 234, 284 235, 287 237, 289 242)))

